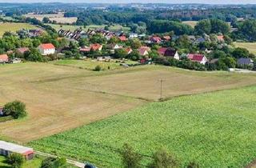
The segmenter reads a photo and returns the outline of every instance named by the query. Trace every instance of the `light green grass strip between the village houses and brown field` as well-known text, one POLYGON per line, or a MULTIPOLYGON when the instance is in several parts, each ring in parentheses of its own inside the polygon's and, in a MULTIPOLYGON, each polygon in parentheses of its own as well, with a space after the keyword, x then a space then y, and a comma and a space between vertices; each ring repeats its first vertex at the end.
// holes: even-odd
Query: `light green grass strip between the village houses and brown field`
MULTIPOLYGON (((123 66, 120 66, 120 62, 115 62, 116 60, 113 60, 112 62, 98 62, 97 60, 58 60, 51 62, 54 65, 59 66, 72 66, 77 68, 82 68, 86 70, 94 70, 95 66, 101 66, 102 70, 116 70, 121 69, 123 66), (110 69, 109 69, 110 67, 110 69)), ((132 61, 127 61, 126 63, 137 63, 132 61)))

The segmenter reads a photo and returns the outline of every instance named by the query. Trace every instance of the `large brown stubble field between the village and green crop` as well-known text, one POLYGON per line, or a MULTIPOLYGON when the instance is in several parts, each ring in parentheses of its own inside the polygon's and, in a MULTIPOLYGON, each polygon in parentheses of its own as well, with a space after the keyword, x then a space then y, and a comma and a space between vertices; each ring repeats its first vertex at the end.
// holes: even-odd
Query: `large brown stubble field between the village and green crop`
POLYGON ((15 99, 29 116, 0 123, 0 137, 17 142, 57 134, 164 98, 249 86, 254 74, 207 73, 164 66, 94 72, 47 63, 0 66, 0 106, 15 99))

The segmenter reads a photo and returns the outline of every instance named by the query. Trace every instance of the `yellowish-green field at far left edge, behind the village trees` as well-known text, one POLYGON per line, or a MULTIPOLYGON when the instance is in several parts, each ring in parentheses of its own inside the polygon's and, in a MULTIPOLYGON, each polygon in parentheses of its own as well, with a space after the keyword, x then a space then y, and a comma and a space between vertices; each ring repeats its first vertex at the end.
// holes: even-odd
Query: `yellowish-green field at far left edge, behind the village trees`
POLYGON ((21 29, 38 29, 38 27, 28 23, 0 23, 0 37, 2 37, 2 34, 4 34, 6 31, 15 33, 17 30, 21 29))

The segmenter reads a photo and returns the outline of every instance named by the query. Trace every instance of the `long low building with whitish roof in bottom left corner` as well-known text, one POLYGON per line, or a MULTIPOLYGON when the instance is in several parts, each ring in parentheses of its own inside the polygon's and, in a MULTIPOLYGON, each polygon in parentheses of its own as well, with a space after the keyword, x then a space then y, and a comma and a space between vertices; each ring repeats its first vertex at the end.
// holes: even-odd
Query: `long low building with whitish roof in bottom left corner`
POLYGON ((34 150, 32 148, 19 146, 10 142, 0 141, 0 154, 3 156, 8 156, 12 153, 22 154, 27 160, 34 158, 34 150))

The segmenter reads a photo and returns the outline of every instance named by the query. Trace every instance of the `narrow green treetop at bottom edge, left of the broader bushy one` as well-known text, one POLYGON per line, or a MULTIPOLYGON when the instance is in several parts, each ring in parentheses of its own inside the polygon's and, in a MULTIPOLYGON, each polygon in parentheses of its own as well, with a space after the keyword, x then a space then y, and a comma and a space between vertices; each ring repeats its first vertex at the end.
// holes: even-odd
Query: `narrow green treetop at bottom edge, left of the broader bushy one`
POLYGON ((140 167, 142 157, 134 152, 134 149, 128 145, 124 144, 122 151, 122 165, 125 168, 138 168, 140 167))

